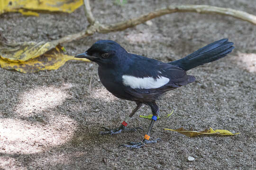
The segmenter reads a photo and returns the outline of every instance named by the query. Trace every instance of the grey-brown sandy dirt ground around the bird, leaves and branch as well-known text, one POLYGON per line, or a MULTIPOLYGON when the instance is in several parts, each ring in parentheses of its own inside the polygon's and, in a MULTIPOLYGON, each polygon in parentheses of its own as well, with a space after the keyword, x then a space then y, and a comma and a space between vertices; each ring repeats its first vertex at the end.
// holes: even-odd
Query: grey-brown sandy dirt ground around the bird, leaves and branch
MULTIPOLYGON (((95 17, 114 23, 179 0, 114 0, 91 2, 95 17)), ((256 15, 255 0, 189 0, 243 10, 256 15)), ((117 127, 135 107, 109 93, 99 80, 97 65, 69 61, 53 71, 22 74, 0 68, 0 170, 33 169, 256 169, 256 26, 233 17, 174 13, 152 19, 122 32, 94 34, 63 44, 67 54, 87 50, 100 39, 119 42, 127 51, 171 61, 202 46, 229 38, 236 49, 229 56, 188 71, 195 82, 170 91, 157 101, 160 117, 153 137, 161 142, 131 150, 119 147, 142 140, 151 114, 142 107, 128 127, 144 131, 101 136, 101 127, 117 127), (91 88, 89 82, 91 79, 91 88), (187 137, 163 128, 207 127, 240 132, 237 136, 187 137), (188 156, 195 158, 188 161, 188 156)), ((51 41, 82 31, 88 22, 83 8, 72 14, 43 13, 27 17, 18 13, 0 16, 0 32, 10 41, 51 41)))

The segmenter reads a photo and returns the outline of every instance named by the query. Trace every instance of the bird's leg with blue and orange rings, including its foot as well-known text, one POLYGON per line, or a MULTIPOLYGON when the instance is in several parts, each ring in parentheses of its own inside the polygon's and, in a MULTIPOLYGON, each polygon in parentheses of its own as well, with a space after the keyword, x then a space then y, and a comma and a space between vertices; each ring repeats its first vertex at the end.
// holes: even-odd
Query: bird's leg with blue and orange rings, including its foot
POLYGON ((159 115, 159 108, 155 102, 150 102, 147 104, 150 106, 153 116, 152 116, 152 120, 149 124, 147 133, 144 136, 144 139, 141 142, 129 142, 128 144, 123 144, 121 146, 126 146, 126 147, 130 147, 130 148, 141 148, 141 147, 145 146, 145 144, 155 144, 155 143, 157 143, 158 140, 160 140, 160 138, 157 138, 155 140, 149 140, 152 127, 153 127, 155 121, 157 120, 157 116, 159 115))

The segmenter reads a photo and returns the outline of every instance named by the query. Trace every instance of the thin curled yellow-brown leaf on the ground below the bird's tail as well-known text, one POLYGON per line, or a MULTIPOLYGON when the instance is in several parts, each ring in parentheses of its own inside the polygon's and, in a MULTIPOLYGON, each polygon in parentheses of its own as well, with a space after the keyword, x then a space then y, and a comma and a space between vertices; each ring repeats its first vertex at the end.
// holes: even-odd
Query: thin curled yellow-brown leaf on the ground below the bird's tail
POLYGON ((239 133, 233 134, 232 132, 230 132, 228 130, 221 130, 221 129, 213 130, 211 127, 209 129, 205 129, 204 131, 201 131, 201 132, 186 130, 183 127, 179 128, 179 129, 164 128, 164 130, 179 132, 179 133, 189 136, 189 137, 200 136, 200 135, 238 135, 239 134, 239 133))

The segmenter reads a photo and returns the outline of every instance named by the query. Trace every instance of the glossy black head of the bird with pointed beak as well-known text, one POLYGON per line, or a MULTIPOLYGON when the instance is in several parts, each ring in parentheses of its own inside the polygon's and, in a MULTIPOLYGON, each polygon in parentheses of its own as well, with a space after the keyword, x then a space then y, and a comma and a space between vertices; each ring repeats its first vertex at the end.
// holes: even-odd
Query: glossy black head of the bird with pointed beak
POLYGON ((78 54, 76 58, 86 58, 99 65, 111 65, 119 63, 124 57, 125 51, 117 42, 111 40, 100 40, 95 42, 87 51, 78 54), (118 55, 120 54, 120 55, 118 55))

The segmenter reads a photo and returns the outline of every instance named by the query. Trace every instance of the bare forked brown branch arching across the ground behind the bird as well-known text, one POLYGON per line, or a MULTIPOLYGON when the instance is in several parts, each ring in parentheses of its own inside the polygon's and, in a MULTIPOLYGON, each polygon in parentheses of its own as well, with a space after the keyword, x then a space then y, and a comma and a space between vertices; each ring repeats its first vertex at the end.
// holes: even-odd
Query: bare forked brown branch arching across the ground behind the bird
MULTIPOLYGON (((89 0, 84 0, 84 2, 85 2, 85 4, 89 3, 89 0)), ((90 5, 89 6, 85 5, 85 6, 86 6, 86 8, 88 8, 88 7, 90 8, 90 5)), ((86 11, 91 12, 91 9, 86 9, 86 11)), ((55 40, 55 42, 56 43, 71 42, 73 40, 77 40, 77 39, 92 35, 96 32, 109 33, 109 32, 113 32, 113 31, 125 30, 129 27, 137 26, 137 25, 144 23, 144 22, 146 22, 150 19, 153 19, 155 17, 160 17, 165 14, 171 14, 174 12, 197 12, 197 13, 222 14, 222 15, 236 17, 236 18, 248 21, 248 22, 256 25, 256 16, 251 15, 247 12, 243 12, 243 11, 239 11, 239 10, 235 10, 235 9, 220 8, 220 7, 214 7, 214 6, 209 6, 209 5, 170 5, 166 8, 156 9, 155 11, 149 12, 140 17, 135 17, 135 18, 128 19, 126 21, 119 22, 119 23, 106 24, 106 25, 95 22, 95 19, 93 18, 92 14, 87 14, 86 16, 88 18, 88 21, 90 23, 93 23, 87 30, 84 30, 77 34, 67 35, 66 37, 63 37, 59 40, 55 40), (91 19, 91 17, 92 17, 92 19, 91 19), (89 19, 91 19, 91 21, 89 19)))

